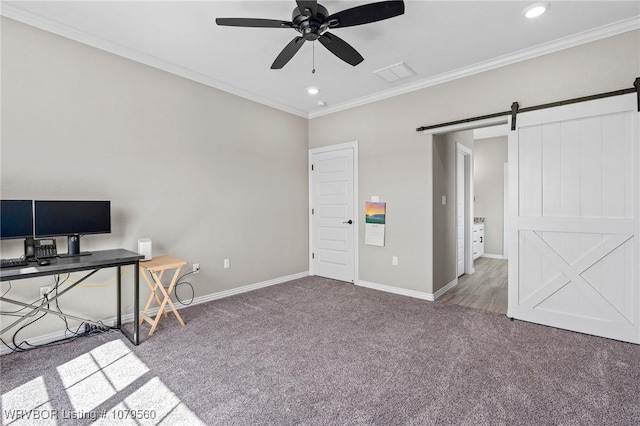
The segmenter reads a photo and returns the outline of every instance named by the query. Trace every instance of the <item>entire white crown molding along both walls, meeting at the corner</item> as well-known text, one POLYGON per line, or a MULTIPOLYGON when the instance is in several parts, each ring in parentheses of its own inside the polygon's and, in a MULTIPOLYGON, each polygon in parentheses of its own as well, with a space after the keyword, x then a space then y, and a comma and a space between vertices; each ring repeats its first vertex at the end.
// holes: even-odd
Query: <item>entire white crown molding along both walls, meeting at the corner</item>
POLYGON ((335 112, 344 111, 347 109, 355 108, 358 106, 366 105, 369 103, 381 101, 394 96, 403 95, 406 93, 414 92, 416 90, 425 89, 427 87, 436 86, 460 78, 468 77, 474 74, 479 74, 492 69, 504 67, 517 62, 525 61, 527 59, 536 58, 539 56, 547 55, 549 53, 557 52, 560 50, 568 49, 571 47, 586 44, 592 41, 612 37, 618 34, 622 34, 628 31, 640 29, 640 16, 634 16, 629 19, 625 19, 613 24, 605 25, 595 28, 590 31, 585 31, 579 34, 575 34, 569 37, 555 40, 550 43, 541 44, 530 49, 520 50, 518 52, 503 55, 498 58, 480 62, 468 67, 459 68, 454 71, 446 72, 434 77, 429 77, 413 83, 405 84, 395 87, 390 90, 381 91, 372 95, 363 96, 361 98, 342 102, 332 107, 324 107, 311 112, 292 108, 289 105, 285 105, 276 102, 272 99, 258 96, 254 93, 247 92, 236 86, 227 84, 223 81, 215 79, 213 77, 206 76, 196 71, 190 70, 185 67, 181 67, 176 64, 164 61, 151 55, 147 55, 140 51, 130 49, 117 43, 96 37, 84 31, 77 30, 67 25, 60 24, 50 19, 43 18, 39 15, 27 12, 23 9, 15 7, 7 3, 0 3, 0 15, 7 18, 22 22, 27 25, 48 31, 53 34, 60 35, 65 38, 77 41, 82 44, 86 44, 95 47, 100 50, 112 53, 114 55, 122 56, 132 61, 148 65, 153 68, 157 68, 162 71, 169 72, 171 74, 184 77, 186 79, 204 84, 215 89, 223 90, 233 95, 248 99, 253 102, 272 107, 289 114, 297 115, 303 118, 312 119, 321 117, 324 115, 333 114, 335 112))

